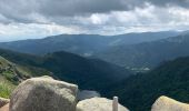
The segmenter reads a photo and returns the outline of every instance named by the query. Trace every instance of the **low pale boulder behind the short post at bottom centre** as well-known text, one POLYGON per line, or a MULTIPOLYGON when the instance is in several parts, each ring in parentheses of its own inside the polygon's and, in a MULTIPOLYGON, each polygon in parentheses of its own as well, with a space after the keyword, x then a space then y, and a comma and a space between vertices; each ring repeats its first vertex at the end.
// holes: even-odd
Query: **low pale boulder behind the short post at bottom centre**
MULTIPOLYGON (((112 111, 112 100, 106 98, 92 98, 80 101, 77 111, 112 111)), ((129 111, 119 104, 118 111, 129 111)))

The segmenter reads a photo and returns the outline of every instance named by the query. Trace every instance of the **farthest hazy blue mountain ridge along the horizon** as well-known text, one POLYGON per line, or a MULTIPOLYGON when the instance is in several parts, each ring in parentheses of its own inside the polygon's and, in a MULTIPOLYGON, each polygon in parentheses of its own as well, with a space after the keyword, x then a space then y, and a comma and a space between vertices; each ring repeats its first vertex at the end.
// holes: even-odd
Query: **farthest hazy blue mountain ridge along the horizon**
POLYGON ((68 51, 80 56, 91 56, 97 51, 112 46, 136 44, 145 41, 155 41, 173 37, 180 32, 143 32, 120 36, 98 34, 60 34, 44 39, 21 40, 0 43, 0 48, 32 54, 46 54, 56 51, 68 51))

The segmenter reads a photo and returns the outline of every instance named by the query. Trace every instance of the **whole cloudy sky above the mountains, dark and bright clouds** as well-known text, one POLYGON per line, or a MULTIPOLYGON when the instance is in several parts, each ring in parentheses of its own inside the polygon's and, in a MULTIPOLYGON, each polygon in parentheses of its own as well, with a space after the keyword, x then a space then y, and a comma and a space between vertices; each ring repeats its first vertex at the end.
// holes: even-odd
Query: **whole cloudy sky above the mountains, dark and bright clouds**
POLYGON ((0 41, 187 28, 189 0, 0 0, 0 41))

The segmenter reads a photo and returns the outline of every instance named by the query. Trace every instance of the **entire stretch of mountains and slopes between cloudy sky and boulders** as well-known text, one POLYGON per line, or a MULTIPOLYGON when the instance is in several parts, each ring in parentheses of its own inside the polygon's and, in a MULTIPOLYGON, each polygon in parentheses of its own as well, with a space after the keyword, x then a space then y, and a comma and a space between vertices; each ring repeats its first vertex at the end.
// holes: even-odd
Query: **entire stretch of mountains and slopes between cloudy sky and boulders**
MULTIPOLYGON (((141 37, 142 34, 145 33, 140 33, 141 37)), ((165 37, 161 34, 162 37, 158 36, 156 40, 142 39, 142 41, 136 37, 138 42, 136 40, 128 43, 126 41, 129 39, 121 36, 126 41, 117 38, 118 42, 109 42, 116 37, 109 39, 99 36, 99 39, 108 39, 99 42, 96 41, 96 36, 91 39, 93 41, 87 34, 80 36, 73 36, 74 39, 72 36, 70 38, 58 36, 0 43, 3 48, 0 49, 0 69, 3 69, 0 72, 0 80, 8 84, 4 87, 2 85, 4 83, 0 82, 0 89, 3 89, 0 91, 0 97, 8 97, 11 92, 10 88, 21 80, 50 74, 56 79, 76 83, 81 90, 99 91, 102 97, 118 95, 120 103, 131 111, 149 111, 160 95, 189 102, 189 51, 187 49, 189 33, 165 37), (79 41, 76 38, 82 39, 79 41), (70 50, 69 48, 74 44, 79 47, 78 50, 70 50), (89 53, 90 51, 92 54, 89 53), (150 70, 133 74, 130 71, 132 68, 150 70), (14 79, 14 77, 19 78, 14 79)))

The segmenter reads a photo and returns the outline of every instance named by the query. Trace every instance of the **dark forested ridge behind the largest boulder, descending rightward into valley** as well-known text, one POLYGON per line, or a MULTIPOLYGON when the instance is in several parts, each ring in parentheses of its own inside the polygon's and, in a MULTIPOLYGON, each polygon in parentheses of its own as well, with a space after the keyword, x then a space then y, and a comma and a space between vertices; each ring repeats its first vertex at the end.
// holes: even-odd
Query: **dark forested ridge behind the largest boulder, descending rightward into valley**
POLYGON ((80 89, 100 91, 132 74, 128 70, 97 59, 86 59, 68 52, 54 52, 43 57, 0 50, 0 56, 22 64, 48 69, 53 75, 80 85, 80 89), (107 82, 109 81, 109 82, 107 82))

